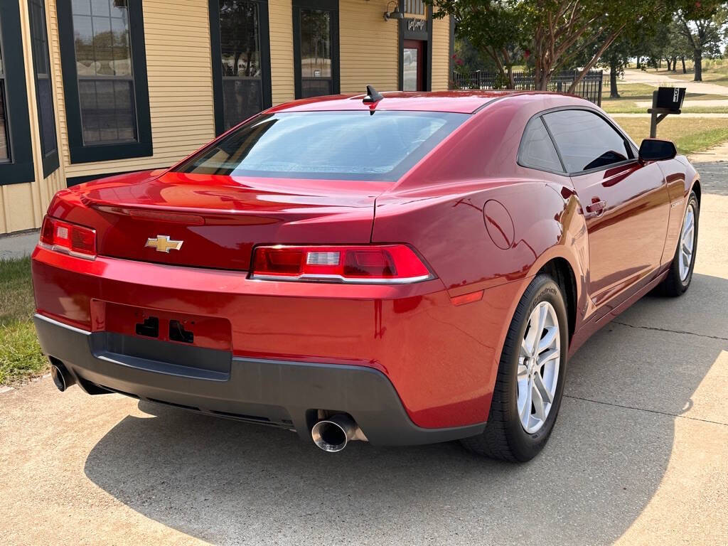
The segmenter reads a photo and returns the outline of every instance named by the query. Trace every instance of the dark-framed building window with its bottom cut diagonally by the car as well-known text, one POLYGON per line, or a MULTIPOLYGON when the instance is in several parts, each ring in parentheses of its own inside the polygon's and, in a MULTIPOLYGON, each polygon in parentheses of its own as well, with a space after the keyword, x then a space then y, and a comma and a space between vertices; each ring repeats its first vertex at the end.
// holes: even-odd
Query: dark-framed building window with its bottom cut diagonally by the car
POLYGON ((268 3, 210 0, 218 134, 271 106, 268 3))

